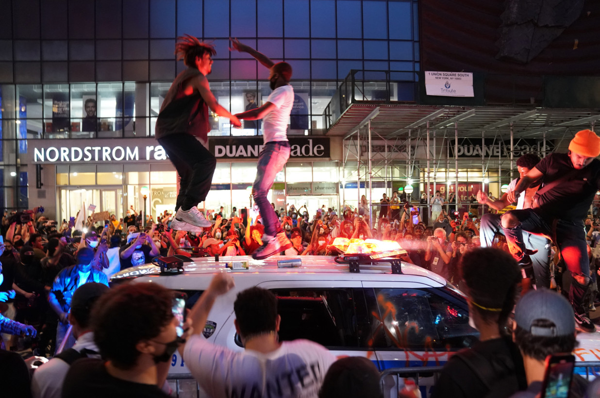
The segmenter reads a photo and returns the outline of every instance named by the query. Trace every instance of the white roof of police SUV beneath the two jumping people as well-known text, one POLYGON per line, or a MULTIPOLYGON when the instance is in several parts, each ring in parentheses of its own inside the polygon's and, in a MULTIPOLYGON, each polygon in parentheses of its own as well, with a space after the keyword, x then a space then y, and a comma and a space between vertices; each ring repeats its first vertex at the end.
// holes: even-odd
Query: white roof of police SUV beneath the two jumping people
MULTIPOLYGON (((334 256, 271 256, 264 260, 254 260, 251 256, 221 256, 219 261, 213 257, 191 258, 192 262, 184 262, 184 272, 181 274, 161 274, 156 265, 145 264, 131 267, 116 273, 111 282, 119 279, 137 277, 160 277, 161 285, 167 288, 198 289, 197 281, 215 272, 226 271, 235 274, 236 279, 244 279, 244 284, 257 285, 268 280, 353 280, 353 281, 389 281, 407 282, 421 287, 445 286, 446 280, 424 268, 406 262, 402 263, 402 274, 392 274, 389 263, 360 265, 360 273, 350 273, 348 264, 338 264, 334 256), (301 259, 302 265, 294 268, 278 268, 277 261, 301 259), (232 270, 226 264, 232 262, 247 262, 247 270, 232 270), (266 277, 266 274, 269 274, 266 277), (172 279, 171 281, 162 279, 172 279)), ((415 286, 416 287, 416 286, 415 286)))

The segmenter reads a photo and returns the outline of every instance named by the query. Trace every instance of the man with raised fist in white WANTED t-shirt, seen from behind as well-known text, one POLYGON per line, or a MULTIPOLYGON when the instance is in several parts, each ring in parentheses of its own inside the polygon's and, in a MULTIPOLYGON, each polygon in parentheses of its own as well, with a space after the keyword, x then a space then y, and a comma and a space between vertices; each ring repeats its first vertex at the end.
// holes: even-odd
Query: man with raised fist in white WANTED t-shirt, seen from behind
POLYGON ((317 398, 334 355, 309 340, 280 343, 277 297, 262 288, 239 292, 233 304, 235 328, 245 351, 209 343, 202 330, 215 299, 233 288, 233 277, 218 273, 188 314, 184 363, 212 398, 317 398))

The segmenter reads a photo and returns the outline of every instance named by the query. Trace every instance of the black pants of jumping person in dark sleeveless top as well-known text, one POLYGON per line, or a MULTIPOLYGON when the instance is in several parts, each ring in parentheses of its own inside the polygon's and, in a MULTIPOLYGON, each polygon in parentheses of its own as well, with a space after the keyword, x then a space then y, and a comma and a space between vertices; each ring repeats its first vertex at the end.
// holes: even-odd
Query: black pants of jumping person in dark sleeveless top
POLYGON ((211 190, 217 159, 190 134, 170 134, 158 139, 158 143, 163 146, 179 174, 179 194, 175 211, 182 205, 184 209, 197 206, 206 199, 208 191, 211 190))

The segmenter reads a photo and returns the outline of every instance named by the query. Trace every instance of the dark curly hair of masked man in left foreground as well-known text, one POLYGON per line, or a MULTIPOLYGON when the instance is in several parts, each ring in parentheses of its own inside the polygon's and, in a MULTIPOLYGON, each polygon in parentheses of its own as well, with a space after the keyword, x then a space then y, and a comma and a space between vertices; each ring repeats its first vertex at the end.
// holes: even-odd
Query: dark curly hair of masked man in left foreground
POLYGON ((136 365, 136 345, 157 337, 172 322, 173 293, 157 283, 128 283, 111 289, 92 310, 94 340, 103 358, 119 369, 136 365))

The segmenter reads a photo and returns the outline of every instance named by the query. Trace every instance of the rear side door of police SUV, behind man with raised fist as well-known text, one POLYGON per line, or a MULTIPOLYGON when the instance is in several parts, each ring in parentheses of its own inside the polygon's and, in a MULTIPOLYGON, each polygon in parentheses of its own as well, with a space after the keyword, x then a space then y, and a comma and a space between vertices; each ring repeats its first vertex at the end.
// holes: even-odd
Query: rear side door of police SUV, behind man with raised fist
MULTIPOLYGON (((368 346, 371 331, 361 282, 295 280, 269 281, 257 286, 277 295, 280 341, 308 339, 337 356, 376 360, 373 349, 368 346)), ((233 318, 227 319, 217 336, 217 344, 241 348, 233 318)))

